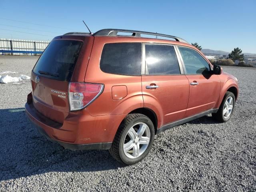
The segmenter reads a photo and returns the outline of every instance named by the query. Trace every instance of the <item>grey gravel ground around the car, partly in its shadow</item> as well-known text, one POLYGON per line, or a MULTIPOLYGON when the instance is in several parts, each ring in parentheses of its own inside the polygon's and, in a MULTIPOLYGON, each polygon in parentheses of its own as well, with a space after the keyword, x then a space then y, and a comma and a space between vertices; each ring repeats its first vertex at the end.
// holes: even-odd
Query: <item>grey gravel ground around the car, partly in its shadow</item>
MULTIPOLYGON (((37 59, 0 56, 0 72, 30 75, 37 59)), ((0 84, 0 191, 256 191, 256 68, 224 71, 240 87, 231 120, 209 115, 162 132, 133 166, 46 140, 24 112, 30 81, 0 84)))

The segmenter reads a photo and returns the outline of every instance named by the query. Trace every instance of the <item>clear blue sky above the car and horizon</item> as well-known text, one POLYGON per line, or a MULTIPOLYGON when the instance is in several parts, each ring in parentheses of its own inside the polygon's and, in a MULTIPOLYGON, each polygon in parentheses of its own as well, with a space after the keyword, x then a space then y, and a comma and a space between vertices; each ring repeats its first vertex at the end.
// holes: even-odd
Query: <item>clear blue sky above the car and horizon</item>
POLYGON ((171 34, 203 48, 256 53, 256 0, 1 0, 0 38, 51 40, 123 28, 171 34))

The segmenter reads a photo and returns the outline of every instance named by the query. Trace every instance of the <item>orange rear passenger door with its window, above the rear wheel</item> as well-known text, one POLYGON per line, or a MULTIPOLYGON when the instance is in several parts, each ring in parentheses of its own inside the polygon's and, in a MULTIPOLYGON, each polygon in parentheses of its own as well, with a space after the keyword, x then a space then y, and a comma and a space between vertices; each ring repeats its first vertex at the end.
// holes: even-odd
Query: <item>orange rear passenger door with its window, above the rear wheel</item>
POLYGON ((176 47, 145 43, 142 50, 144 107, 158 112, 162 125, 184 118, 189 84, 176 56, 176 47))

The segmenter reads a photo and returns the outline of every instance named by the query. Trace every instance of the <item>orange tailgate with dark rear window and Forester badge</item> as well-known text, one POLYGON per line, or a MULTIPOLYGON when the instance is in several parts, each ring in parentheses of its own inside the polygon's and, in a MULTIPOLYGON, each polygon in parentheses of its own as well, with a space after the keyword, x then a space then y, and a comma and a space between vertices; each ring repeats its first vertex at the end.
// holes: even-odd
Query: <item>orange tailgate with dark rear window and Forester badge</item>
POLYGON ((34 107, 56 122, 68 115, 68 84, 82 45, 80 40, 53 40, 32 70, 34 107))

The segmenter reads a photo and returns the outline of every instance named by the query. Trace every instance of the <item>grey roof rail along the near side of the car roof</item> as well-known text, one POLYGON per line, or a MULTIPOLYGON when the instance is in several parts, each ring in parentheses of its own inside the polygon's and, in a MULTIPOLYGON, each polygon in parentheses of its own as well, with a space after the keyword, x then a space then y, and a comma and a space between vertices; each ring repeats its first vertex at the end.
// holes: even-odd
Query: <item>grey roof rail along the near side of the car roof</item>
POLYGON ((160 33, 152 33, 152 32, 146 32, 146 31, 125 30, 125 29, 102 29, 102 30, 99 30, 96 33, 94 33, 93 36, 118 36, 118 32, 132 33, 131 36, 134 36, 134 37, 140 37, 140 34, 162 36, 162 37, 173 38, 179 42, 188 43, 188 42, 186 42, 186 40, 176 37, 176 36, 160 34, 160 33))

